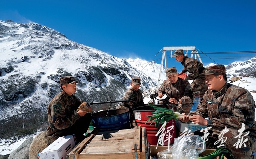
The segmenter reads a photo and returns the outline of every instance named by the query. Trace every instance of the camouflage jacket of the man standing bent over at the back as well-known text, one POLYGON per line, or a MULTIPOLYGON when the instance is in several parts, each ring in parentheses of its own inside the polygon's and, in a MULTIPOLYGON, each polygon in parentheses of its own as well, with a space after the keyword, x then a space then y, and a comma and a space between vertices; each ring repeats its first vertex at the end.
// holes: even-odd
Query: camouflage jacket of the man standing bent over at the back
POLYGON ((198 76, 200 73, 204 71, 203 64, 194 59, 192 57, 184 56, 181 64, 184 66, 182 72, 188 72, 189 74, 185 78, 185 80, 194 80, 196 83, 205 83, 205 78, 198 76))

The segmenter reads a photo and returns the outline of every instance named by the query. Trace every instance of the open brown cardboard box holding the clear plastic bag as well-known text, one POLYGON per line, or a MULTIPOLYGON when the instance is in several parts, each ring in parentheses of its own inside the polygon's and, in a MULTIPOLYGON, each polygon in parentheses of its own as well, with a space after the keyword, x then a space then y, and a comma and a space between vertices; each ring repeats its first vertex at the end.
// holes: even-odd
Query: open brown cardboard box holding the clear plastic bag
MULTIPOLYGON (((168 149, 168 146, 158 146, 157 147, 155 145, 150 145, 150 157, 149 158, 153 159, 154 157, 157 157, 158 152, 161 152, 166 149, 168 149)), ((215 149, 205 149, 205 151, 203 151, 200 155, 202 156, 202 155, 210 154, 213 151, 215 151, 215 149)), ((218 156, 214 159, 220 159, 220 156, 218 156)), ((227 159, 227 158, 224 156, 224 159, 227 159)))

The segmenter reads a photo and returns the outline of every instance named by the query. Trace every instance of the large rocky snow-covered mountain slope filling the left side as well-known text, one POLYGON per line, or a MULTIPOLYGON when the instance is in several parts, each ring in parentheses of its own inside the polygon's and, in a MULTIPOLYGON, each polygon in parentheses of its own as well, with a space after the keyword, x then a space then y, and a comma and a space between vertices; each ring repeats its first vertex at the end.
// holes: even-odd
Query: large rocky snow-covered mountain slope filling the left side
POLYGON ((0 21, 0 48, 1 119, 45 109, 60 92, 60 76, 75 76, 76 95, 88 102, 120 100, 132 76, 141 77, 142 90, 155 87, 159 77, 155 62, 114 57, 36 23, 0 21))

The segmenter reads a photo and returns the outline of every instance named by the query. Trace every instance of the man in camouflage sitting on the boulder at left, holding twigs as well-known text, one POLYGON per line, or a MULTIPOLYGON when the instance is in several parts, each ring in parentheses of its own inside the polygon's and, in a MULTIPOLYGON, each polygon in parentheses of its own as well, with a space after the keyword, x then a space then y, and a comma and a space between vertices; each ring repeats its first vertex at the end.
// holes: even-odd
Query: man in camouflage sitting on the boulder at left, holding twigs
POLYGON ((88 105, 88 111, 79 110, 82 103, 73 93, 76 91, 75 78, 72 76, 60 77, 62 91, 57 94, 48 106, 47 136, 55 141, 60 136, 75 134, 77 142, 82 141, 91 123, 92 108, 88 105))

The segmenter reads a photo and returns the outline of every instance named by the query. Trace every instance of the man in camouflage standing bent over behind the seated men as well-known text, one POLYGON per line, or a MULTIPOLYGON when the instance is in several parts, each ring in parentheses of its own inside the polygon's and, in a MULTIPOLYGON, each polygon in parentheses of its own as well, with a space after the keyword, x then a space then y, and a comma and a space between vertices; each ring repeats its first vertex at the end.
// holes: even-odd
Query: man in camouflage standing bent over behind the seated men
POLYGON ((188 72, 189 74, 187 75, 185 80, 193 80, 190 86, 194 93, 194 96, 195 93, 199 91, 200 96, 202 97, 205 91, 208 89, 208 87, 205 85, 205 78, 199 76, 200 73, 203 73, 203 64, 197 59, 184 56, 184 52, 182 49, 176 50, 172 57, 175 57, 175 60, 181 62, 181 64, 184 66, 183 70, 179 75, 188 72))

